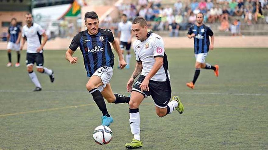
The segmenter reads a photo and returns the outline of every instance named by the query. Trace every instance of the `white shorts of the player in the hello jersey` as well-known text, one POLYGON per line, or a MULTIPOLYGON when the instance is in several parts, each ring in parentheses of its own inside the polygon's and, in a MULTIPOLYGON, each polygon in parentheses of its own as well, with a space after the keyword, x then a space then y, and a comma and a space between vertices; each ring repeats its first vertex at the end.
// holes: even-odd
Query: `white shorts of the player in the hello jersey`
MULTIPOLYGON (((106 85, 110 82, 112 75, 113 75, 113 68, 112 67, 101 67, 98 68, 93 75, 97 75, 98 77, 101 78, 101 81, 103 85, 98 87, 98 90, 100 92, 103 91, 103 89, 106 87, 106 85)), ((92 76, 93 76, 92 75, 92 76)))

